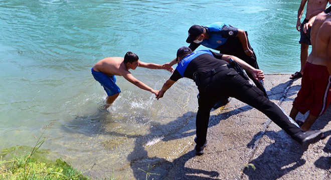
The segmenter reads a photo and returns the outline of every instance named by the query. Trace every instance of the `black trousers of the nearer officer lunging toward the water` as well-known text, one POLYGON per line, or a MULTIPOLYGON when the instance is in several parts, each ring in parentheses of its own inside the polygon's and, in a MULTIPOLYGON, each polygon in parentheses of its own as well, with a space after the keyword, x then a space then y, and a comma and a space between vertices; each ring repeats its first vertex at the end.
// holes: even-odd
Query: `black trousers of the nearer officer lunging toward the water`
POLYGON ((260 89, 250 84, 234 69, 222 70, 211 79, 206 78, 202 81, 204 85, 198 87, 199 108, 196 119, 198 145, 206 141, 210 110, 219 99, 226 96, 234 97, 260 110, 292 138, 298 140, 295 134, 302 132, 302 129, 278 105, 266 98, 260 89), (207 89, 205 89, 206 84, 209 84, 207 89))

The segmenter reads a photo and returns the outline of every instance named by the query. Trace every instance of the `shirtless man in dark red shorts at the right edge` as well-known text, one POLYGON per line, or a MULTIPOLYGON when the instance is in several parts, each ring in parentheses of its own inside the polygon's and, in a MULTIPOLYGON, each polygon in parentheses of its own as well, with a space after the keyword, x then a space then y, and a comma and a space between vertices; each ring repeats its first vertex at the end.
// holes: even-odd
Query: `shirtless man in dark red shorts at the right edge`
POLYGON ((290 117, 298 112, 309 115, 302 123, 304 131, 310 129, 318 116, 331 102, 331 6, 319 13, 311 26, 312 50, 304 66, 301 89, 293 101, 290 117), (328 10, 328 11, 327 11, 328 10))

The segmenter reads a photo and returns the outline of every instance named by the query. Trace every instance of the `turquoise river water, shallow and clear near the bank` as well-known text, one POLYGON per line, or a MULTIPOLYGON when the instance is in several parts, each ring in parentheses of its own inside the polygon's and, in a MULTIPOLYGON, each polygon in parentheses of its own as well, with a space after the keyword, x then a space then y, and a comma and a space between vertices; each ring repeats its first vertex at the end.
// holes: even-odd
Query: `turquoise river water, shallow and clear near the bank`
MULTIPOLYGON (((175 57, 193 24, 224 21, 248 31, 265 73, 299 70, 298 0, 0 0, 0 149, 34 145, 48 129, 45 148, 92 175, 128 168, 128 153, 153 137, 153 128, 197 107, 194 83, 183 79, 158 101, 122 77, 109 111, 90 68, 106 56, 136 52, 142 61, 175 57), (139 143, 137 136, 146 136, 139 143), (103 161, 107 159, 106 162, 103 161), (107 169, 107 170, 105 170, 107 169)), ((203 49, 203 47, 199 47, 203 49)), ((138 68, 138 79, 159 89, 171 75, 138 68)), ((172 129, 169 129, 171 131, 172 129)), ((165 132, 164 132, 165 133, 165 132)), ((133 158, 134 159, 134 158, 133 158)), ((125 171, 125 173, 129 173, 125 171)))

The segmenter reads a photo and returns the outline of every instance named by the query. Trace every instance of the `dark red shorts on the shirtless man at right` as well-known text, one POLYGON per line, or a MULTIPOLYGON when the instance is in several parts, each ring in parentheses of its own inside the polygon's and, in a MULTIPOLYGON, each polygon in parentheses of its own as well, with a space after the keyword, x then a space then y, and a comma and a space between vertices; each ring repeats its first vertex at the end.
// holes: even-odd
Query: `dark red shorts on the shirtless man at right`
POLYGON ((293 106, 302 114, 309 110, 314 116, 322 115, 331 102, 331 76, 326 66, 306 62, 301 89, 293 106))

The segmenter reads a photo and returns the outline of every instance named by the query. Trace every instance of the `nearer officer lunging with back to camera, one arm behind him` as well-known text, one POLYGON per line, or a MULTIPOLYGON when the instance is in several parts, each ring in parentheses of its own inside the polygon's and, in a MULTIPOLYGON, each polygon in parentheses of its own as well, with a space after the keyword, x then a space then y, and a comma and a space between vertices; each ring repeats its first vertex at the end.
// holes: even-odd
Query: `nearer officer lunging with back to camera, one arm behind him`
POLYGON ((195 150, 198 155, 204 153, 204 147, 207 145, 210 110, 218 100, 227 96, 234 97, 263 112, 304 148, 320 139, 321 131, 304 132, 278 105, 266 98, 259 88, 251 84, 238 66, 241 65, 250 72, 255 80, 264 80, 262 70, 252 67, 236 56, 211 50, 192 52, 189 47, 185 46, 178 49, 177 59, 179 63, 174 73, 163 84, 156 98, 163 97, 164 92, 182 77, 191 78, 196 82, 199 89, 199 107, 196 117, 195 150), (238 63, 240 65, 236 65, 238 63))

